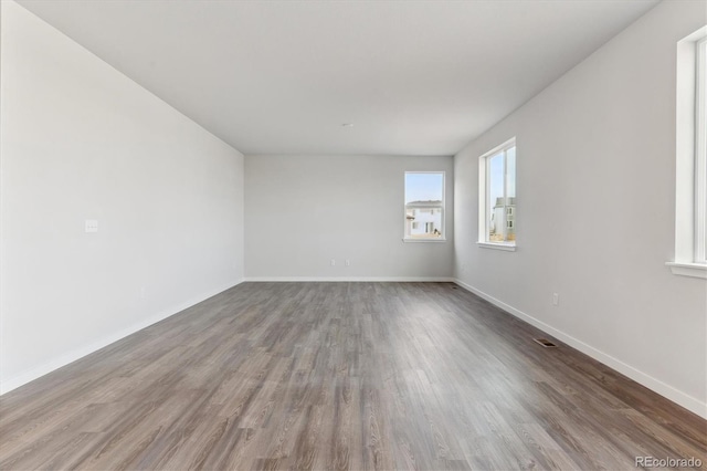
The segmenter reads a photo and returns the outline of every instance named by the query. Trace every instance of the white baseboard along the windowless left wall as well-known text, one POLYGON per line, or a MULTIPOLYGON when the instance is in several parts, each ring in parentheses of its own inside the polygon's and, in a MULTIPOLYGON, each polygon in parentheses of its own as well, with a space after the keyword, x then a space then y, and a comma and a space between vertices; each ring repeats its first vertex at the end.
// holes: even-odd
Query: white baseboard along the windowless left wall
POLYGON ((223 285, 220 286, 215 290, 211 290, 207 293, 203 293, 199 296, 194 296, 183 303, 180 303, 169 310, 165 310, 154 316, 150 316, 146 320, 143 320, 141 322, 138 322, 137 324, 134 324, 129 327, 123 328, 112 335, 107 335, 103 338, 101 338, 99 341, 95 341, 92 342, 87 345, 84 345, 80 348, 75 348, 71 352, 67 352, 63 355, 61 355, 57 358, 52 359, 51 362, 44 363, 40 366, 33 367, 24 373, 21 373, 17 376, 13 376, 11 378, 8 379, 3 379, 2 381, 0 381, 0 395, 3 395, 6 393, 11 391, 12 389, 17 389, 20 386, 30 383, 41 376, 44 376, 55 369, 61 368, 62 366, 66 366, 72 362, 75 362, 86 355, 89 355, 96 350, 99 350, 101 348, 108 346, 110 344, 113 344, 114 342, 119 341, 120 338, 127 337, 130 334, 136 333, 137 331, 140 331, 145 327, 149 327, 152 324, 156 324, 169 316, 172 316, 186 308, 189 308, 196 304, 199 304, 200 302, 208 300, 211 296, 214 296, 219 293, 222 293, 233 286, 236 286, 239 284, 241 284, 243 282, 243 280, 236 282, 235 284, 232 283, 228 283, 228 285, 223 285))

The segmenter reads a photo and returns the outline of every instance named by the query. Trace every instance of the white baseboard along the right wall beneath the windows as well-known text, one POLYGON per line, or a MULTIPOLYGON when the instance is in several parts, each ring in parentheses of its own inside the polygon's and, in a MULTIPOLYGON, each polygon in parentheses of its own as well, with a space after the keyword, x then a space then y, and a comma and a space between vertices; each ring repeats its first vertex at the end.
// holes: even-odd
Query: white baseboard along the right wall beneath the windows
POLYGON ((595 359, 597 362, 603 363, 604 365, 609 366, 612 369, 615 369, 616 371, 621 373, 622 375, 627 376, 629 378, 633 379, 634 381, 645 386, 646 388, 659 394, 661 396, 672 400, 673 402, 684 407, 685 409, 707 419, 707 402, 700 401, 697 398, 694 398, 678 389, 675 389, 673 386, 661 381, 659 379, 656 379, 654 377, 652 377, 651 375, 647 375, 643 371, 641 371, 640 369, 634 368, 631 365, 627 365, 623 362, 621 362, 618 358, 612 357, 611 355, 608 355, 594 347, 592 347, 591 345, 585 344, 584 342, 572 337, 569 334, 566 334, 562 331, 559 331, 548 324, 546 324, 542 321, 539 321, 526 313, 524 313, 523 311, 519 311, 506 303, 504 303, 503 301, 499 301, 497 299, 495 299, 494 296, 490 296, 489 294, 484 293, 481 290, 475 289, 472 285, 468 285, 466 283, 464 283, 463 281, 455 279, 454 283, 458 284, 460 286, 462 286, 463 289, 476 294, 479 297, 483 297, 484 300, 488 301, 489 303, 496 305, 497 307, 500 307, 502 310, 506 311, 507 313, 527 322, 528 324, 541 329, 542 332, 553 336, 555 338, 557 338, 558 341, 561 341, 563 343, 566 343, 567 345, 577 348, 578 350, 582 352, 585 355, 589 355, 590 357, 592 357, 593 359, 595 359))

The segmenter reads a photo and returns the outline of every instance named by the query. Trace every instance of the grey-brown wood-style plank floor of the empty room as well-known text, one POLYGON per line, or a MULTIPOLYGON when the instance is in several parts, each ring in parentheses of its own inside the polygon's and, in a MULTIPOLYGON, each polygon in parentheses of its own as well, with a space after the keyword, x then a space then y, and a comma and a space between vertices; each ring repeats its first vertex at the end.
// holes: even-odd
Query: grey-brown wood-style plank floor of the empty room
POLYGON ((451 283, 244 283, 0 398, 0 469, 707 469, 707 422, 451 283))

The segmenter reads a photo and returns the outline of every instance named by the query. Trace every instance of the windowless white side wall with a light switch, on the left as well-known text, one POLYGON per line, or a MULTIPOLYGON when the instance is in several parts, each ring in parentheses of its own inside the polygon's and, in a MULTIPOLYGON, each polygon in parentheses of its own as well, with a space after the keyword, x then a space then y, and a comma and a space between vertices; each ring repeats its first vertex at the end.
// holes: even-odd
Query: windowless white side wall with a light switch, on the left
POLYGON ((243 156, 1 6, 7 391, 239 283, 243 156), (85 219, 99 232, 84 233, 85 219))

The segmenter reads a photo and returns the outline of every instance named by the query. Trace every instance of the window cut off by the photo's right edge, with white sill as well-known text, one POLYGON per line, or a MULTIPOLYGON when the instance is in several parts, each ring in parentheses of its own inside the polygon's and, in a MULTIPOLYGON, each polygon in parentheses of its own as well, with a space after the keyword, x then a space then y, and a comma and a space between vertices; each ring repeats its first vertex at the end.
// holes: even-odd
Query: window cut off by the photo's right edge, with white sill
POLYGON ((677 43, 674 274, 707 279, 707 27, 677 43))

